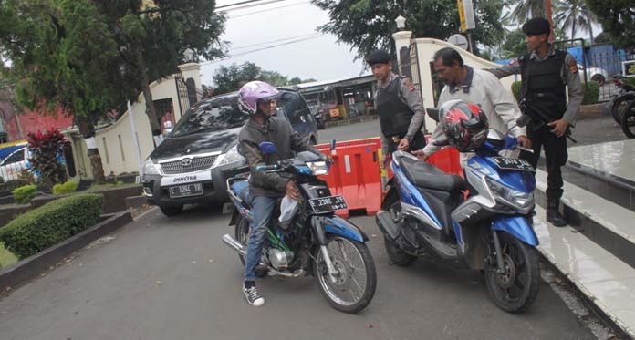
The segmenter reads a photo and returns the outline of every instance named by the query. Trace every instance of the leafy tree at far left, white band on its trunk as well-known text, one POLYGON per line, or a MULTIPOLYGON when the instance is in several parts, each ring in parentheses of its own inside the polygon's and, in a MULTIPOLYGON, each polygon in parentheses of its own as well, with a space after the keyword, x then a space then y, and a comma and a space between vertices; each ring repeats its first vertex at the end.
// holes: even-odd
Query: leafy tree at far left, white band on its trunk
POLYGON ((0 46, 11 67, 3 76, 16 88, 16 101, 38 112, 63 108, 87 139, 93 178, 104 182, 94 122, 109 100, 103 67, 117 53, 102 15, 89 0, 3 1, 0 46), (92 140, 92 143, 90 142, 92 140))

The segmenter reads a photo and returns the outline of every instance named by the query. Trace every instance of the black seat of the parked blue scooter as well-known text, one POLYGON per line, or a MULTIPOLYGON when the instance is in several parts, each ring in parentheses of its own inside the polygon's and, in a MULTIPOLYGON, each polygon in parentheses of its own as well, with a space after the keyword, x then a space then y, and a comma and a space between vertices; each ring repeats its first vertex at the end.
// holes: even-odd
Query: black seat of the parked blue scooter
POLYGON ((422 160, 401 159, 401 168, 409 180, 420 188, 437 191, 467 190, 467 183, 461 176, 451 175, 422 160))

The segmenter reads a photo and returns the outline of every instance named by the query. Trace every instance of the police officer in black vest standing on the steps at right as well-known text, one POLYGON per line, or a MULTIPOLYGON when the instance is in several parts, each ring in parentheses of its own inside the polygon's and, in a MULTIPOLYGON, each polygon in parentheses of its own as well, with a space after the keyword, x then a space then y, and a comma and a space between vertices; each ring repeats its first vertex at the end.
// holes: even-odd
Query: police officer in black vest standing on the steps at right
POLYGON ((523 153, 534 167, 545 149, 547 166, 547 221, 557 227, 567 225, 559 211, 562 197, 562 172, 567 163, 567 133, 576 122, 582 103, 578 63, 567 52, 549 44, 547 19, 536 17, 523 25, 529 53, 517 63, 488 69, 496 77, 522 76, 521 108, 532 118, 527 129, 534 153, 523 153), (568 87, 568 104, 567 104, 568 87))

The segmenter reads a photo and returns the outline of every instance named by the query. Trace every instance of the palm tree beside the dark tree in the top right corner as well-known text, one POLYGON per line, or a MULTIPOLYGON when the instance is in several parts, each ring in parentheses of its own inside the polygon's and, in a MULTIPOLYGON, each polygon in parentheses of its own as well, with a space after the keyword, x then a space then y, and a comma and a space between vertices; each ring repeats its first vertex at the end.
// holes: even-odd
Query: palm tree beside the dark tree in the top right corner
POLYGON ((557 5, 557 15, 554 21, 565 30, 571 30, 571 39, 576 32, 588 32, 593 44, 593 24, 598 23, 598 17, 588 9, 585 0, 562 0, 557 5))

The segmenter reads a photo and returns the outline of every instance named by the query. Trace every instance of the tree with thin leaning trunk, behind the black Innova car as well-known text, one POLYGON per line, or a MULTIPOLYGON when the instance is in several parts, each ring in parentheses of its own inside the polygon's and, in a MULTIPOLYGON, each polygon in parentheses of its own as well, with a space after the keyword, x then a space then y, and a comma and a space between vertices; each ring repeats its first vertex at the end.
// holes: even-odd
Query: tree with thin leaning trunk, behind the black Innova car
POLYGON ((215 1, 202 0, 95 0, 108 17, 117 41, 119 61, 111 64, 119 80, 134 84, 113 93, 136 101, 143 93, 152 135, 161 134, 153 105, 151 82, 179 72, 183 52, 190 48, 194 58, 212 60, 224 56, 225 17, 214 13, 215 1), (121 93, 123 92, 123 93, 121 93))

